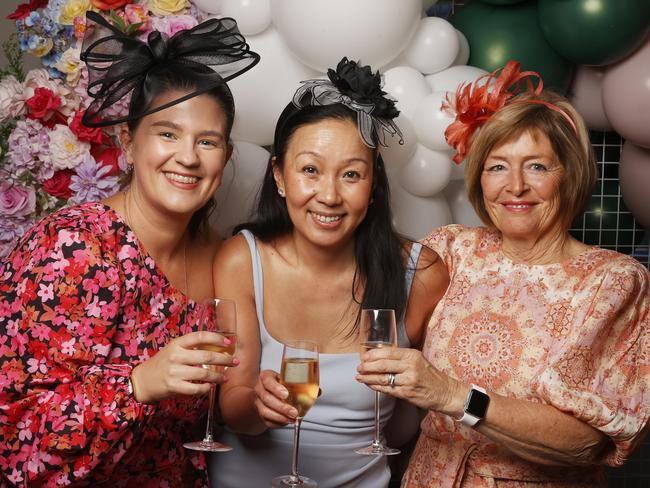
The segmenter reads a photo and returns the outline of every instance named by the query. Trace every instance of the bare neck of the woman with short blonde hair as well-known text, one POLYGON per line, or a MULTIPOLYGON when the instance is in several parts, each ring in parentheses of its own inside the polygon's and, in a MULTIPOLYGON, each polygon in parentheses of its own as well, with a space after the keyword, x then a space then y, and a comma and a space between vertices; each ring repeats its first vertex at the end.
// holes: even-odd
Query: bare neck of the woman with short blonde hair
POLYGON ((564 230, 554 231, 534 238, 506 236, 503 234, 502 236, 501 249, 506 257, 515 263, 559 263, 579 254, 585 247, 584 244, 576 241, 564 230))

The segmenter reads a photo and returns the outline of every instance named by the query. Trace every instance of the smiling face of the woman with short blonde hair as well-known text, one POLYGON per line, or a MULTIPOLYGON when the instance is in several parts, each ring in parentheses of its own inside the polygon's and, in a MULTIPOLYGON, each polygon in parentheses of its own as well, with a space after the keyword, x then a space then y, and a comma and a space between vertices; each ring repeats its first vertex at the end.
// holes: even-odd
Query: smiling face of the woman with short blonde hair
POLYGON ((481 174, 483 202, 504 238, 536 240, 561 232, 560 182, 563 168, 539 131, 495 146, 481 174))

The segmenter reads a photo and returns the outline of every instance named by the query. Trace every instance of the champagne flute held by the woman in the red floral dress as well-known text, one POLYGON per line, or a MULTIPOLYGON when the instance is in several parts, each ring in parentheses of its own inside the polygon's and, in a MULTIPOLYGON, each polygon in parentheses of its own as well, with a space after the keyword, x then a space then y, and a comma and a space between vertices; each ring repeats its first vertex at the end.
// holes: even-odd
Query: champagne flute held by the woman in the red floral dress
MULTIPOLYGON (((235 354, 235 348, 237 345, 237 310, 235 302, 224 298, 208 300, 206 307, 201 314, 199 329, 217 332, 230 339, 230 344, 223 346, 217 344, 199 344, 197 349, 220 352, 232 357, 235 354)), ((203 367, 210 368, 216 372, 225 372, 227 369, 226 366, 219 366, 217 364, 204 364, 203 367)), ((208 406, 208 420, 205 427, 205 437, 200 441, 186 442, 183 444, 183 447, 186 449, 205 452, 227 452, 232 450, 232 447, 226 444, 221 444, 220 442, 215 441, 212 437, 216 391, 217 385, 212 383, 210 385, 210 400, 208 406)))

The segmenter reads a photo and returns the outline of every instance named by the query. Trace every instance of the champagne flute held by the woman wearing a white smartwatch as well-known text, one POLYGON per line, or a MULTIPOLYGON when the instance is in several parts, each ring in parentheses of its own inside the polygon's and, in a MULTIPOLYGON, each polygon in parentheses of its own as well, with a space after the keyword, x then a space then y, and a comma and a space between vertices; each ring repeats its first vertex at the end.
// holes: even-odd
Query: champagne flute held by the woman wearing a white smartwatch
MULTIPOLYGON (((391 309, 364 309, 361 311, 361 351, 360 354, 383 347, 397 345, 397 322, 395 310, 391 309)), ((357 449, 357 454, 365 456, 391 456, 399 454, 399 449, 388 447, 382 441, 381 426, 379 423, 379 392, 375 391, 375 434, 369 446, 357 449)))

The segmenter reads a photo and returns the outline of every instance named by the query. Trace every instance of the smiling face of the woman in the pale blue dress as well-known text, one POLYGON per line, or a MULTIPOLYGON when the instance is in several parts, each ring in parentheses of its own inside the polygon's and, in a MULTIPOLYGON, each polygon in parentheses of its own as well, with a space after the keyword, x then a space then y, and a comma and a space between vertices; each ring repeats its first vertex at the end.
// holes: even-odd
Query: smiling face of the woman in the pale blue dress
POLYGON ((330 118, 296 129, 274 176, 295 234, 319 247, 353 242, 373 188, 373 152, 354 122, 330 118))

